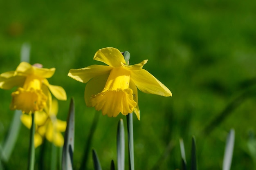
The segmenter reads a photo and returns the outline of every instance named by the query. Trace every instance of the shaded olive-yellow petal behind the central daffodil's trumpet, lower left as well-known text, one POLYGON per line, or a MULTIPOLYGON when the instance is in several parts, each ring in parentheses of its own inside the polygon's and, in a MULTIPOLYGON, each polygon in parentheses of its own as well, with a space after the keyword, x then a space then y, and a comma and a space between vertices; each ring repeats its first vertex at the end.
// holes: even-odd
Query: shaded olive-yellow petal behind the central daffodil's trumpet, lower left
POLYGON ((94 77, 86 84, 85 93, 84 93, 86 106, 92 107, 90 98, 92 97, 92 95, 101 93, 101 91, 103 90, 107 82, 108 76, 109 76, 108 74, 105 74, 105 75, 94 77))

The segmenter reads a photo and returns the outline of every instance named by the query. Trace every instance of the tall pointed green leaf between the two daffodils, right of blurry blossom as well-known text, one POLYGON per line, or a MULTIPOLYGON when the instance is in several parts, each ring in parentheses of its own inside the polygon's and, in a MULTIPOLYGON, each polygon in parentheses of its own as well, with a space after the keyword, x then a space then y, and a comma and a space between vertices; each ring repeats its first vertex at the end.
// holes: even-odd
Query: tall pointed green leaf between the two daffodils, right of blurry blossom
POLYGON ((62 152, 62 170, 73 170, 74 133, 75 133, 75 104, 70 101, 70 109, 67 117, 67 128, 64 136, 62 152))

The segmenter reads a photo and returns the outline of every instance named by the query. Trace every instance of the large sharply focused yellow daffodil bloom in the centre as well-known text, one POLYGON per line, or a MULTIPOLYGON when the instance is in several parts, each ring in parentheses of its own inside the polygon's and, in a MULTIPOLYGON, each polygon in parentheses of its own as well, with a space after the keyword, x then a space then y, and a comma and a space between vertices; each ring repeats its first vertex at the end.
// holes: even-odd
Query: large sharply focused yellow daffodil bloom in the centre
POLYGON ((85 103, 88 107, 101 110, 103 115, 117 117, 121 112, 128 115, 132 111, 139 119, 137 88, 144 93, 171 96, 171 91, 148 71, 142 69, 148 60, 128 66, 122 53, 115 48, 100 49, 94 60, 108 66, 91 65, 80 69, 70 69, 68 76, 87 83, 85 103))

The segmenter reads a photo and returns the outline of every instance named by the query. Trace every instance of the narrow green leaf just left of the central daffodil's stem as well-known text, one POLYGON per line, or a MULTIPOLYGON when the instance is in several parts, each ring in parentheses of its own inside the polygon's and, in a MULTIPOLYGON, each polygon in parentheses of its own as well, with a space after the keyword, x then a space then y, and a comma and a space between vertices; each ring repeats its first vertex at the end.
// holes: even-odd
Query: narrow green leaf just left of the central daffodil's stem
POLYGON ((120 119, 117 126, 117 170, 124 170, 124 145, 124 121, 120 119))

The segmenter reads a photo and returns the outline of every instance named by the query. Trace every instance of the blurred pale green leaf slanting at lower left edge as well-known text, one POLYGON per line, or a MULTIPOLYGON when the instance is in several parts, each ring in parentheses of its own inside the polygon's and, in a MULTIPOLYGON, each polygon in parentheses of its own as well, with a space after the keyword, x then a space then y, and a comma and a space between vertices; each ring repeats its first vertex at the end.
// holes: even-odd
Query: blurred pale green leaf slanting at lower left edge
POLYGON ((4 139, 4 143, 2 146, 2 153, 0 157, 5 162, 9 160, 9 157, 11 156, 11 152, 18 138, 18 134, 20 131, 20 115, 21 114, 22 114, 21 110, 15 110, 7 136, 4 139))

